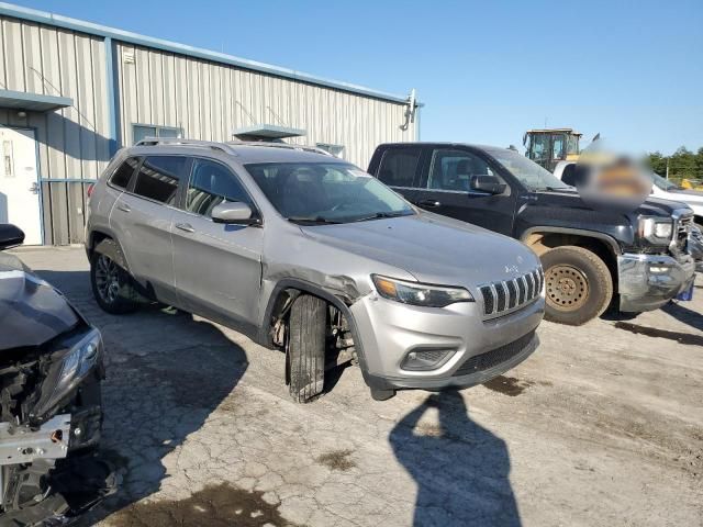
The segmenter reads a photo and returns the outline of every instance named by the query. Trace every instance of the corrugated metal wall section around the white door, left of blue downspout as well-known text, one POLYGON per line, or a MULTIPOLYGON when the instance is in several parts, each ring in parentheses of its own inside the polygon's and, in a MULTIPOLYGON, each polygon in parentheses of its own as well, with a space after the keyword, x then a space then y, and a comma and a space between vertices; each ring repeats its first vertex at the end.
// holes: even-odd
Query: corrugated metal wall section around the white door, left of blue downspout
POLYGON ((25 117, 0 109, 0 124, 36 131, 45 243, 82 242, 87 184, 80 180, 96 179, 110 159, 102 38, 2 18, 0 88, 74 100, 71 108, 25 117))

